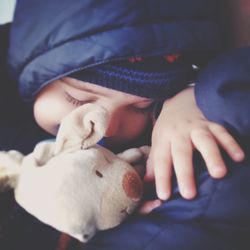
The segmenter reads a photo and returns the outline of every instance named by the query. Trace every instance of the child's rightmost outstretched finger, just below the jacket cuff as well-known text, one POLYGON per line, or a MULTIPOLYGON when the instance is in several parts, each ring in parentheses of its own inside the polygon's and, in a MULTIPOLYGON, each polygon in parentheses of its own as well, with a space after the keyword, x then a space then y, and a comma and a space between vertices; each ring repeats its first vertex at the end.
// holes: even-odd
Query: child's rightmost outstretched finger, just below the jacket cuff
POLYGON ((209 126, 210 131, 221 145, 221 147, 228 153, 234 161, 242 161, 245 157, 243 150, 236 140, 229 134, 229 132, 222 126, 212 123, 209 126))

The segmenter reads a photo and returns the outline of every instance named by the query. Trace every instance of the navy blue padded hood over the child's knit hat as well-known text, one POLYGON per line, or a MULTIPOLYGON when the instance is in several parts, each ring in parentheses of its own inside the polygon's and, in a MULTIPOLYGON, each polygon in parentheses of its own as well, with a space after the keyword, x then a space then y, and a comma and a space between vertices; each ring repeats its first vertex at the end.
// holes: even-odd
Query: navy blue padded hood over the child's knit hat
POLYGON ((217 0, 19 0, 8 63, 25 101, 52 80, 131 56, 221 47, 217 0))

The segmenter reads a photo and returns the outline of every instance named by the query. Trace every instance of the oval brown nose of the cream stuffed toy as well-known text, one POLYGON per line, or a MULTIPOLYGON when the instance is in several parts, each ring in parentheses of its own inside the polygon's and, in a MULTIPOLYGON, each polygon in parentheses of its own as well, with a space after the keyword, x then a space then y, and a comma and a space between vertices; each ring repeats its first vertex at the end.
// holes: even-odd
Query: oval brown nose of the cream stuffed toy
POLYGON ((129 198, 135 201, 141 198, 142 181, 135 172, 129 171, 123 176, 122 187, 129 198))

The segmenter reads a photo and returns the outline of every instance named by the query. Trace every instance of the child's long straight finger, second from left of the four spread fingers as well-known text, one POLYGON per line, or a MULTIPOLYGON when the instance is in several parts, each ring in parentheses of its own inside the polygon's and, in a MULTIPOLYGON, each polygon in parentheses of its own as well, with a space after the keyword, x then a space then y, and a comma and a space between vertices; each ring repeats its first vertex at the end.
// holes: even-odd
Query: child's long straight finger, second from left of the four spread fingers
POLYGON ((186 199, 196 196, 193 169, 193 146, 189 138, 173 141, 171 145, 173 165, 179 190, 186 199))

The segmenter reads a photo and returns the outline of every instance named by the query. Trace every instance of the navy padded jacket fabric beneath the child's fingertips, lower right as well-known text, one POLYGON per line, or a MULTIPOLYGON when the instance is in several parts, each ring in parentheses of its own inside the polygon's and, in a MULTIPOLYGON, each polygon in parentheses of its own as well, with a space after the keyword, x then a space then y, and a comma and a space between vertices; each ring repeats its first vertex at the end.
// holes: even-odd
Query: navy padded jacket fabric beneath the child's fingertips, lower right
POLYGON ((249 161, 234 164, 228 160, 229 174, 215 180, 197 160, 197 198, 184 200, 175 184, 172 198, 149 216, 135 216, 118 228, 100 232, 82 249, 249 249, 249 161))

